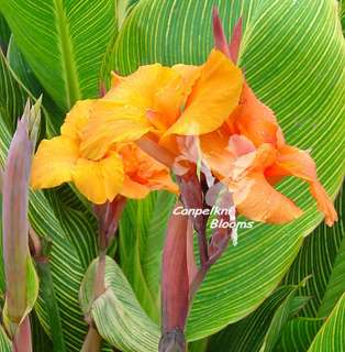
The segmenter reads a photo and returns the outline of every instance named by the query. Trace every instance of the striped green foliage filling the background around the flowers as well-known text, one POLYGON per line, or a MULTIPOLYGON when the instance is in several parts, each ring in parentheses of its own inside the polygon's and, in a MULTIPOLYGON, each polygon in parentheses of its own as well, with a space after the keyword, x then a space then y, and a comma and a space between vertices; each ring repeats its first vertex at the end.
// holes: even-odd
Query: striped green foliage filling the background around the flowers
MULTIPOLYGON (((42 138, 51 138, 76 100, 97 97, 100 81, 109 84, 111 69, 129 74, 154 62, 202 63, 213 45, 213 4, 229 35, 243 16, 240 65, 276 111, 288 142, 311 148, 321 180, 337 196, 341 220, 326 229, 305 185, 280 185, 305 215, 285 227, 241 231, 238 245, 229 248, 194 299, 190 350, 345 351, 344 3, 0 0, 1 164, 27 97, 43 92, 42 138)), ((125 209, 109 252, 110 289, 91 312, 104 351, 157 350, 160 253, 174 201, 159 193, 125 209)), ((34 350, 79 351, 97 256, 94 219, 68 186, 32 194, 30 206, 32 227, 53 243, 48 265, 37 267, 34 350)), ((2 267, 0 292, 3 297, 2 267)), ((3 334, 0 343, 0 351, 9 350, 3 334)))

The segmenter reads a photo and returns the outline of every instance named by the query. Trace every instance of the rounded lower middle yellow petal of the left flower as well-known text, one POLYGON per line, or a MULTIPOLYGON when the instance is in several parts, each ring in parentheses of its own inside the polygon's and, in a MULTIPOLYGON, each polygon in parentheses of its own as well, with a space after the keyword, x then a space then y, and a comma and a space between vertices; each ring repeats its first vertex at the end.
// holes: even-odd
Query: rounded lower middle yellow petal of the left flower
POLYGON ((73 180, 90 201, 97 205, 112 201, 123 185, 122 160, 114 152, 98 162, 79 158, 73 180))

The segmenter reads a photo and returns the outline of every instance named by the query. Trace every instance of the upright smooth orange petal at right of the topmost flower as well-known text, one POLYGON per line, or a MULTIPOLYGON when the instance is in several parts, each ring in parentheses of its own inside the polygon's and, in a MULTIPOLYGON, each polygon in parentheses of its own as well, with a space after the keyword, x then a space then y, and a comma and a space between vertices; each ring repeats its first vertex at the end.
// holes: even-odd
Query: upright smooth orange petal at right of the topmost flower
POLYGON ((238 103, 243 85, 241 69, 213 50, 188 98, 186 109, 167 134, 199 135, 212 132, 238 103))

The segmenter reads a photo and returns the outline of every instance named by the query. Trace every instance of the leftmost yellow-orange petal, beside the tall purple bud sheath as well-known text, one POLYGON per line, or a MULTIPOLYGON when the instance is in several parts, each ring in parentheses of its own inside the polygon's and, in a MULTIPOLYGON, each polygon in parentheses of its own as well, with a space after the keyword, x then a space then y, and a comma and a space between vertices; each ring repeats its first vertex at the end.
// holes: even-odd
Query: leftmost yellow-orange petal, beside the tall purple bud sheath
POLYGON ((71 139, 56 136, 42 141, 33 158, 32 187, 51 188, 70 182, 78 156, 78 144, 71 139))

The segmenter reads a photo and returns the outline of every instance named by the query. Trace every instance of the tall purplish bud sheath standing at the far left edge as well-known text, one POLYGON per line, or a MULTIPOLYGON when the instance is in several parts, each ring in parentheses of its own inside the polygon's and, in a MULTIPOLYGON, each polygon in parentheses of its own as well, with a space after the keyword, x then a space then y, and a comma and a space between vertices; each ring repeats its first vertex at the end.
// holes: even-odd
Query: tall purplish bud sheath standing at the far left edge
POLYGON ((26 268, 29 257, 29 178, 32 143, 27 122, 18 122, 3 174, 3 258, 7 282, 7 315, 19 323, 26 309, 26 268))

